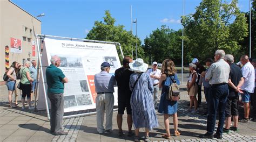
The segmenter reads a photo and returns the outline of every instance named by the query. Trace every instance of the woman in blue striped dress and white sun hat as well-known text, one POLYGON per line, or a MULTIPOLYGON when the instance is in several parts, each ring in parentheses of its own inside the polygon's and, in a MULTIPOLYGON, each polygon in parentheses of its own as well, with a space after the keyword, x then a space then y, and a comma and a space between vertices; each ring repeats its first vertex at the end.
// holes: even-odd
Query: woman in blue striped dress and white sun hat
POLYGON ((132 91, 130 103, 135 129, 134 141, 139 141, 140 127, 145 127, 144 140, 149 141, 149 131, 154 127, 158 127, 158 119, 152 98, 153 83, 150 76, 145 73, 148 65, 142 59, 136 59, 129 63, 129 66, 135 72, 130 76, 130 90, 132 91))

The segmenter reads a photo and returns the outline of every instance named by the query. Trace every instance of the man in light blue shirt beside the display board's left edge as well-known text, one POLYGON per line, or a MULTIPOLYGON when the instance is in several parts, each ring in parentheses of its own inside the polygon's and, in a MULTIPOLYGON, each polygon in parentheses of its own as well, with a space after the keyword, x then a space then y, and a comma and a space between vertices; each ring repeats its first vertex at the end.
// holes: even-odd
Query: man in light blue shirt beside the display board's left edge
MULTIPOLYGON (((33 82, 31 83, 31 101, 33 100, 33 96, 35 94, 35 88, 36 88, 36 77, 37 77, 37 69, 36 69, 36 60, 31 61, 32 66, 29 68, 29 72, 31 74, 31 78, 33 79, 33 82)), ((35 98, 36 101, 36 98, 35 98)))

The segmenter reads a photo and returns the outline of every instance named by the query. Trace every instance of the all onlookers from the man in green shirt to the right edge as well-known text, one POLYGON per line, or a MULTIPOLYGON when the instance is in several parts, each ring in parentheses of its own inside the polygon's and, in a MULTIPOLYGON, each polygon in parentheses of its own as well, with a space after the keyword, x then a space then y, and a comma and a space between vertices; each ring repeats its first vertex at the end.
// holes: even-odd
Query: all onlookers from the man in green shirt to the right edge
MULTIPOLYGON (((250 104, 252 101, 253 110, 251 111, 251 120, 255 120, 255 93, 254 79, 256 60, 251 64, 247 55, 240 58, 241 69, 234 65, 234 58, 223 50, 217 50, 214 54, 214 61, 211 58, 206 59, 205 63, 208 69, 201 73, 197 72, 198 60, 189 64, 190 76, 187 83, 187 91, 190 96, 190 110, 194 106, 197 111, 201 98, 197 100, 196 96, 199 86, 204 86, 205 98, 207 101, 207 132, 202 138, 222 138, 223 132, 229 130, 238 131, 238 100, 241 94, 242 103, 244 103, 245 116, 240 122, 248 122, 250 104), (215 62, 214 62, 215 61, 215 62), (200 75, 200 77, 199 77, 200 75), (197 83, 198 82, 198 83, 197 83), (252 95, 254 93, 254 95, 252 95), (215 120, 219 113, 218 129, 215 134, 215 120), (233 116, 234 125, 230 127, 231 117, 233 116), (226 121, 225 121, 226 119, 226 121), (225 123, 225 127, 223 129, 225 123)), ((67 134, 62 128, 63 117, 63 90, 64 83, 68 79, 63 74, 60 66, 60 58, 53 56, 51 66, 46 68, 46 81, 48 84, 48 97, 51 101, 51 132, 55 134, 67 134)), ((158 127, 158 118, 156 109, 163 113, 165 134, 163 138, 171 139, 169 116, 173 117, 173 136, 179 136, 177 101, 166 99, 169 93, 169 87, 175 81, 179 84, 177 70, 171 59, 163 61, 161 69, 157 69, 157 62, 152 63, 152 69, 147 69, 148 65, 143 59, 132 60, 130 56, 125 56, 123 66, 117 69, 114 75, 110 72, 111 65, 103 62, 100 66, 101 72, 95 75, 96 110, 97 110, 97 131, 99 134, 108 134, 112 132, 112 117, 114 104, 114 86, 118 87, 118 136, 125 135, 122 129, 123 114, 127 113, 127 136, 134 136, 134 141, 139 141, 139 129, 145 128, 145 141, 149 141, 149 132, 158 127), (158 90, 161 88, 160 98, 158 90), (157 102, 159 101, 159 105, 157 102), (104 126, 104 115, 106 123, 104 126), (132 131, 132 126, 135 133, 132 131)), ((201 90, 200 90, 201 91, 201 90)))

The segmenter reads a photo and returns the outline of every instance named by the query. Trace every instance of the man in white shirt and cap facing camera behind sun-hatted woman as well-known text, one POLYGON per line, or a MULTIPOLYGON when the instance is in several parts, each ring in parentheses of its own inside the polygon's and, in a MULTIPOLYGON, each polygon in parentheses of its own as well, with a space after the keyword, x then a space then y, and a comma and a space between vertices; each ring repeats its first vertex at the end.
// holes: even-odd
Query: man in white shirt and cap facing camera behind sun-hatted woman
POLYGON ((160 96, 158 95, 159 91, 159 80, 161 76, 161 70, 157 68, 157 62, 152 63, 152 68, 147 70, 147 74, 150 75, 151 80, 154 86, 154 94, 153 94, 153 101, 154 101, 154 108, 158 109, 157 101, 160 100, 160 96))

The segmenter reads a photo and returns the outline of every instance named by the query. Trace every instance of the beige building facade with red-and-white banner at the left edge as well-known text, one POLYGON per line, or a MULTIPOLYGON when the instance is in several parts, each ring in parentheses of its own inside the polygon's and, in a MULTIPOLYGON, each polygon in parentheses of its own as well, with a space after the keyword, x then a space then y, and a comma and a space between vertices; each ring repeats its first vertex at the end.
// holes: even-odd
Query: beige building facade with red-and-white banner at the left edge
POLYGON ((37 60, 33 26, 35 34, 41 34, 41 21, 33 17, 10 0, 0 1, 0 85, 13 61, 37 60))

